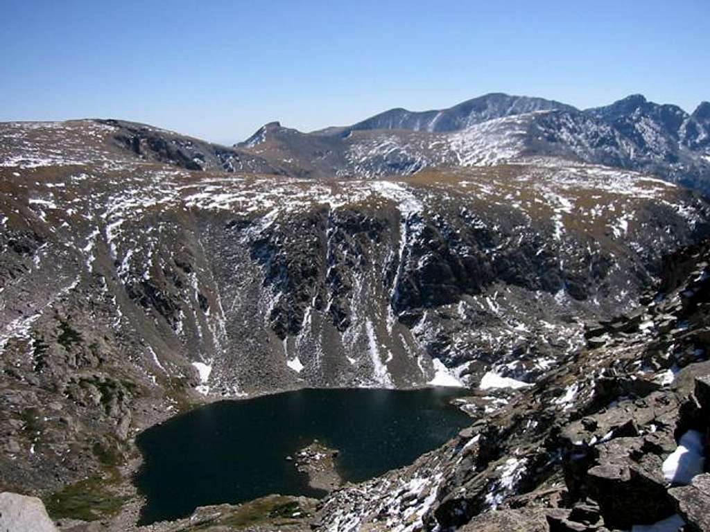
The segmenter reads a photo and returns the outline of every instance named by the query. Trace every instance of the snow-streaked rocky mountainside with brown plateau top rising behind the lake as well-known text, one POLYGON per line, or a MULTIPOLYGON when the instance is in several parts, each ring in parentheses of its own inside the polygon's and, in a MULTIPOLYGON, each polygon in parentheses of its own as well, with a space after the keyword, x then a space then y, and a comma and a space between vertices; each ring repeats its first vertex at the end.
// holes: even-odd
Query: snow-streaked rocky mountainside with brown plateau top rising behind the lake
POLYGON ((114 467, 192 401, 547 382, 584 321, 631 309, 707 232, 698 196, 581 162, 307 180, 187 170, 193 140, 125 133, 2 126, 6 488, 114 467))

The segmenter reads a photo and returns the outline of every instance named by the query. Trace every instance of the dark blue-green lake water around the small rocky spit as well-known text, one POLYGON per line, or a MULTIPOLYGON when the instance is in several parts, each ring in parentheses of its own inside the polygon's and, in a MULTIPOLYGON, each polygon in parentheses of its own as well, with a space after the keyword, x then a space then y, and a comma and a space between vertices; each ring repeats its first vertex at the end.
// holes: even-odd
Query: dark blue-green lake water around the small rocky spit
POLYGON ((442 445, 469 416, 449 401, 459 389, 305 389, 221 401, 175 416, 136 438, 141 523, 188 516, 197 506, 267 494, 322 497, 285 460, 317 439, 340 451, 345 480, 359 482, 442 445))

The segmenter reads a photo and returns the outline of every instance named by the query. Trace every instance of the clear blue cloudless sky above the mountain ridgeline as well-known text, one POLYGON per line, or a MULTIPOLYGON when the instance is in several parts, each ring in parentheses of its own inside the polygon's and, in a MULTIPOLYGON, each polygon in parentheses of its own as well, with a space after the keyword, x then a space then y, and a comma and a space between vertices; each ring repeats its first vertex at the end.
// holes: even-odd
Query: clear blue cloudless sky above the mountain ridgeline
POLYGON ((115 117, 222 143, 486 92, 710 100, 710 0, 2 0, 0 121, 115 117))

